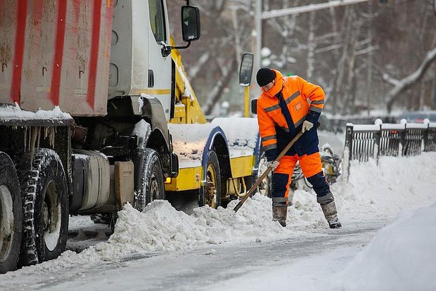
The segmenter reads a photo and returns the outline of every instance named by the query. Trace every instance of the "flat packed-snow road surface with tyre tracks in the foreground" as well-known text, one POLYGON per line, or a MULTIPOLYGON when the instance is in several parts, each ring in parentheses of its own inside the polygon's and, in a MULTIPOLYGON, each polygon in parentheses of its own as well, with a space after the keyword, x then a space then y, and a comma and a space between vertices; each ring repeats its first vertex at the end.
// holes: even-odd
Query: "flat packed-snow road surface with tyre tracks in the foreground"
POLYGON ((116 261, 58 266, 50 271, 18 271, 18 278, 1 280, 0 287, 1 290, 267 290, 271 284, 289 286, 291 281, 293 287, 300 286, 295 290, 307 290, 316 287, 319 278, 342 269, 386 222, 367 221, 334 231, 318 229, 295 238, 208 245, 169 254, 132 254, 116 261))

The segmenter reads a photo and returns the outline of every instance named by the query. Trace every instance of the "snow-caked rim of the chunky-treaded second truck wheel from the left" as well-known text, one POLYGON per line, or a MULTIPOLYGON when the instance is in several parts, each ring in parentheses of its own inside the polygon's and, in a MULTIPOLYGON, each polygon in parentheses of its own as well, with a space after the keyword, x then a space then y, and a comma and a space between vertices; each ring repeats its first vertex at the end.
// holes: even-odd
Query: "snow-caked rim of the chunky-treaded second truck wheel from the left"
POLYGON ((41 227, 44 231, 44 242, 50 251, 53 251, 56 245, 58 245, 61 224, 60 214, 58 186, 54 181, 50 181, 46 188, 44 202, 42 203, 41 221, 41 227))

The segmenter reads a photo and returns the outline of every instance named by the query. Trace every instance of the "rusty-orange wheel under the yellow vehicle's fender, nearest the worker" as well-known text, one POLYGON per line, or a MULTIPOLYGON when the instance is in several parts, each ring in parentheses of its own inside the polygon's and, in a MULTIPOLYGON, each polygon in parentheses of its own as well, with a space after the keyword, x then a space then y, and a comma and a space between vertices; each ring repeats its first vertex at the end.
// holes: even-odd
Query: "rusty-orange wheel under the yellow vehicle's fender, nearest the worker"
POLYGON ((198 206, 209 205, 218 208, 221 205, 221 171, 217 154, 211 150, 207 155, 206 185, 200 188, 198 206))

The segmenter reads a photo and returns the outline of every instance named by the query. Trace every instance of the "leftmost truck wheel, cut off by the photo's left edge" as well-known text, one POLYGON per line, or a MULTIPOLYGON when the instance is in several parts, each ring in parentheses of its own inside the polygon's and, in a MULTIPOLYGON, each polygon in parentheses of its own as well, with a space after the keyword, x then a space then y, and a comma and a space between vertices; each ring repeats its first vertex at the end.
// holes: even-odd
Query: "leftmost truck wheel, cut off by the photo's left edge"
POLYGON ((0 153, 0 273, 17 269, 22 230, 20 183, 11 158, 0 153))

